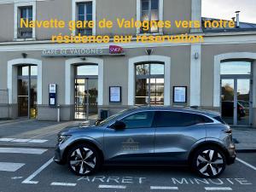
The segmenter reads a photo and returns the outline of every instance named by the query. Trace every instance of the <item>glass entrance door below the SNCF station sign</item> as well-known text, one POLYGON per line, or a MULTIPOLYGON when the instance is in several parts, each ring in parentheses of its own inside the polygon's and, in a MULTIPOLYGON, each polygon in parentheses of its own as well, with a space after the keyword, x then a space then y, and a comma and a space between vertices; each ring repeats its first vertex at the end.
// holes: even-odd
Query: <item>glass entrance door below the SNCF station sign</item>
POLYGON ((98 79, 75 79, 75 119, 96 119, 98 79))

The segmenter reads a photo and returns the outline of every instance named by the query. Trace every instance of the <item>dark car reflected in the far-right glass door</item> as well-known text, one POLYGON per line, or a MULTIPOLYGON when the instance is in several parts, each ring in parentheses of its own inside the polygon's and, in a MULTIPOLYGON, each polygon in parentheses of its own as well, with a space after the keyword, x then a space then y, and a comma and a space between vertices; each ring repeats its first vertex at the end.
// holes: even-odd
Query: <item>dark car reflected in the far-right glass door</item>
MULTIPOLYGON (((221 111, 223 117, 234 117, 234 102, 224 101, 221 105, 221 111)), ((240 119, 246 116, 245 108, 240 102, 237 102, 237 117, 240 119)))

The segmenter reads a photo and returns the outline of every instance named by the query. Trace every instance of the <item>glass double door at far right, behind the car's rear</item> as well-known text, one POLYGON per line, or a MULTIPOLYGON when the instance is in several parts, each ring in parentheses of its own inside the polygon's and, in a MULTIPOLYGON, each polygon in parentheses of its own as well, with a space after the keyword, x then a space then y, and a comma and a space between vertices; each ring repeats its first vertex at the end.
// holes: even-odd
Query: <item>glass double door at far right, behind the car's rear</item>
POLYGON ((221 113, 229 125, 252 125, 250 79, 221 80, 221 113))

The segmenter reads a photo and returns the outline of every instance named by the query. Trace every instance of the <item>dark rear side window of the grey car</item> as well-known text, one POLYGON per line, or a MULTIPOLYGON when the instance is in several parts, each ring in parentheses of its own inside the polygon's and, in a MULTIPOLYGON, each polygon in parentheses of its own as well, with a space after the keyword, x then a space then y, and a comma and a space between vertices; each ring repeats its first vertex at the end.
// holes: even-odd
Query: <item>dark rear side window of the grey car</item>
POLYGON ((212 119, 200 114, 160 111, 157 112, 154 125, 157 127, 177 127, 210 122, 213 122, 212 119))

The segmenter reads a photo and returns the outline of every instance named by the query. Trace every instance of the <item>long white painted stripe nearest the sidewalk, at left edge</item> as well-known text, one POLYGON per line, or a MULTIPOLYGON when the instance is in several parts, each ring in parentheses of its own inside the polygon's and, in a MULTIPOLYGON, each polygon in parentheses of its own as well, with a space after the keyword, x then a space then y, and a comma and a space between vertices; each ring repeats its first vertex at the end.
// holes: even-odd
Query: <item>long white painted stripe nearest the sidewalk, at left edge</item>
POLYGON ((0 154, 44 154, 43 148, 0 148, 0 154))

